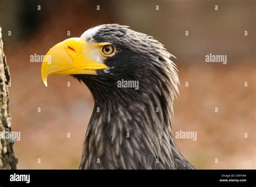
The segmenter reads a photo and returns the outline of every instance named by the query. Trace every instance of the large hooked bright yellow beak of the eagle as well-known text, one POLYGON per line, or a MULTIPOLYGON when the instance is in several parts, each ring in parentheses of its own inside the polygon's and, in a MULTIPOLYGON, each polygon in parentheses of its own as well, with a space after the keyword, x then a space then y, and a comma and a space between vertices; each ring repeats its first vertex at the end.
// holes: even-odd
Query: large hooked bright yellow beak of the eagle
POLYGON ((48 75, 97 75, 95 70, 107 66, 93 60, 91 53, 89 46, 81 38, 69 38, 53 46, 42 63, 41 75, 45 86, 48 75))

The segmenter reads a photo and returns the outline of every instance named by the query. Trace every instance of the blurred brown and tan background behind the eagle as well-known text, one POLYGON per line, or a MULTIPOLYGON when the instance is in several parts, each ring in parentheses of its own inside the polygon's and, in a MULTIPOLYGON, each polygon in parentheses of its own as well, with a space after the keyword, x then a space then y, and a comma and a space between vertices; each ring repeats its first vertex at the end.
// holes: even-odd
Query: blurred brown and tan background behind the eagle
POLYGON ((255 7, 247 0, 1 0, 12 131, 21 131, 17 168, 77 169, 93 108, 87 87, 71 77, 50 77, 45 87, 41 63, 30 56, 92 26, 119 23, 154 36, 177 57, 174 133, 197 131, 197 141, 177 139, 187 160, 198 169, 255 169, 255 7), (227 64, 205 63, 210 53, 227 55, 227 64))

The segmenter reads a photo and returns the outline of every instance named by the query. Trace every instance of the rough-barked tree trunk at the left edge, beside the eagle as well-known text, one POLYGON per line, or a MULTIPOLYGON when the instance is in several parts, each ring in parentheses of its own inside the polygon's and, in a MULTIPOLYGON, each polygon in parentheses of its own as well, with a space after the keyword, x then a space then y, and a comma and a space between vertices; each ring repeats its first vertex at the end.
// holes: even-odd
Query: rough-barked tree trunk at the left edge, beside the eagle
POLYGON ((3 51, 2 28, 0 27, 0 169, 16 169, 18 162, 14 156, 12 146, 14 139, 10 138, 11 117, 9 114, 9 91, 10 82, 9 67, 6 64, 6 57, 3 51))

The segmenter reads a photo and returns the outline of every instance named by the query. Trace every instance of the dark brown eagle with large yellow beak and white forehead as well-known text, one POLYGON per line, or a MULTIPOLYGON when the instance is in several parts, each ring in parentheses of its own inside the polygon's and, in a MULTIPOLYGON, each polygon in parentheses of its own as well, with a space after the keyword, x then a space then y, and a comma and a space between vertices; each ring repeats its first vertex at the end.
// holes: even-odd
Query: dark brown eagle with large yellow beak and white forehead
POLYGON ((92 27, 46 53, 45 86, 48 76, 71 75, 95 102, 79 169, 195 169, 173 136, 179 78, 170 58, 158 40, 119 24, 92 27))

